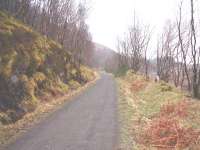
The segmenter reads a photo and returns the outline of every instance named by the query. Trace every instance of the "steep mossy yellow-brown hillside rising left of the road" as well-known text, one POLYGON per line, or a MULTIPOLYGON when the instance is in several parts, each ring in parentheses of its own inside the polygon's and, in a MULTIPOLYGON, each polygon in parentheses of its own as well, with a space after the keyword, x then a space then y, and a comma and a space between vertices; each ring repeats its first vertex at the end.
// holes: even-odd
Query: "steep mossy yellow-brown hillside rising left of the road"
POLYGON ((94 77, 70 59, 61 45, 0 12, 0 122, 16 121, 39 99, 50 100, 94 77))

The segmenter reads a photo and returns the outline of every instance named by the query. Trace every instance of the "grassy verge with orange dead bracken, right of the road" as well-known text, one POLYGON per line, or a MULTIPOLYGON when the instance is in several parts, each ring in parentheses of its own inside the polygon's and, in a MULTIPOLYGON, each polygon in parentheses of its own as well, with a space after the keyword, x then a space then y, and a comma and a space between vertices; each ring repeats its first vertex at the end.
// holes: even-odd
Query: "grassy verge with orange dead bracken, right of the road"
POLYGON ((120 149, 200 149, 200 102, 173 85, 129 71, 117 78, 120 149))

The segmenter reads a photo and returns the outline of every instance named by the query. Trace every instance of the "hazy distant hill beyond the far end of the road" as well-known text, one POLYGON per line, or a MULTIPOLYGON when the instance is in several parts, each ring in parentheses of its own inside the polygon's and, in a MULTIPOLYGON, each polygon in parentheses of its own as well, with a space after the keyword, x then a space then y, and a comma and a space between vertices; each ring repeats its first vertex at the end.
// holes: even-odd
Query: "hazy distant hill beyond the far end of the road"
POLYGON ((98 43, 94 43, 94 47, 92 56, 93 67, 105 69, 108 72, 117 69, 119 55, 117 52, 98 43))

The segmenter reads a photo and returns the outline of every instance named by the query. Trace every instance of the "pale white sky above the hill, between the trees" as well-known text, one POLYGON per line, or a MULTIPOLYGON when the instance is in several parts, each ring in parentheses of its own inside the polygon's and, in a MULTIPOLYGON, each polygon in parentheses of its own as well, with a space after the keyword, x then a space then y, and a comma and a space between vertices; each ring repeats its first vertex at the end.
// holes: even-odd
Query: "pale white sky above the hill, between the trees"
MULTIPOLYGON (((178 0, 91 0, 88 24, 93 40, 116 49, 116 39, 123 36, 133 21, 134 10, 140 21, 157 33, 169 18, 175 18, 178 0)), ((156 35, 156 36, 155 36, 156 35)))

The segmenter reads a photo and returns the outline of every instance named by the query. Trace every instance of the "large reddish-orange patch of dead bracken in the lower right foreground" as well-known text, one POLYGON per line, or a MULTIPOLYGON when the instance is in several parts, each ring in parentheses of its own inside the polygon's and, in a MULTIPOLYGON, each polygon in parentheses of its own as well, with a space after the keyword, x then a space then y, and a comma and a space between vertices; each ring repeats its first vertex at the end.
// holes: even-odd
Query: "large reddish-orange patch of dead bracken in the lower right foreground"
POLYGON ((158 150, 180 150, 199 144, 200 131, 181 125, 179 118, 188 115, 189 102, 162 106, 159 116, 144 128, 139 143, 158 150))

